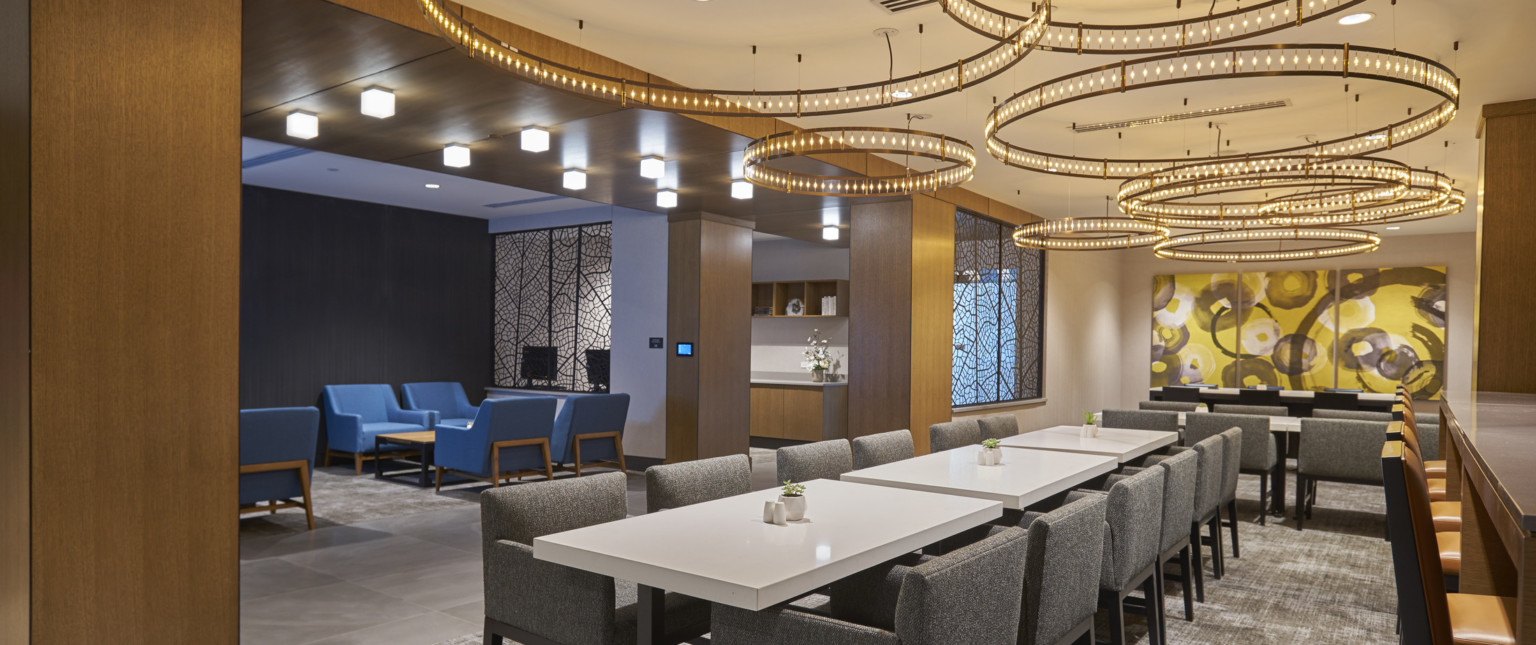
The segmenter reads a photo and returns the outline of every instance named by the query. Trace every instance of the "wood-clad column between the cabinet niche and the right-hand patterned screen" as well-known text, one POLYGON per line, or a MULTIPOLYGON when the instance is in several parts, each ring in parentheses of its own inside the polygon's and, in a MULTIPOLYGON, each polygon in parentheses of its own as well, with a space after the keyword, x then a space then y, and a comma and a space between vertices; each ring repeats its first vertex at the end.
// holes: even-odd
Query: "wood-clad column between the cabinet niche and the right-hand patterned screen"
POLYGON ((849 226, 848 435, 951 419, 955 206, 928 195, 856 204, 849 226))

